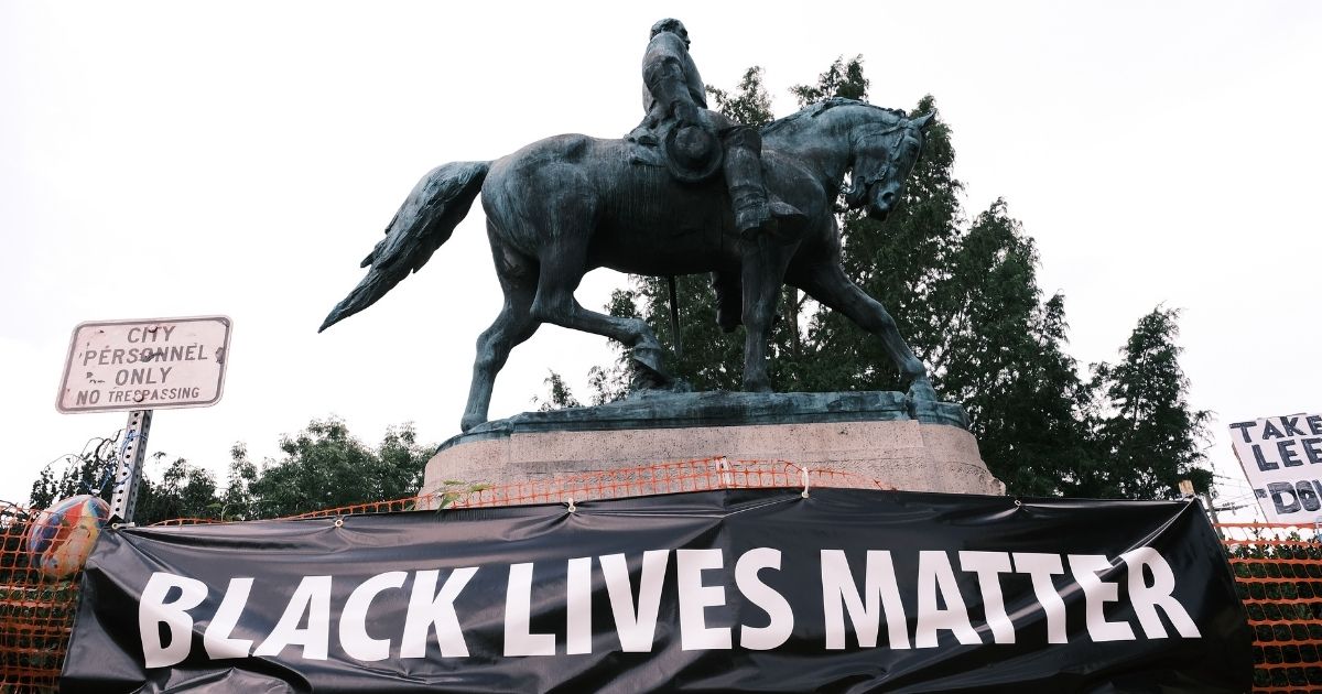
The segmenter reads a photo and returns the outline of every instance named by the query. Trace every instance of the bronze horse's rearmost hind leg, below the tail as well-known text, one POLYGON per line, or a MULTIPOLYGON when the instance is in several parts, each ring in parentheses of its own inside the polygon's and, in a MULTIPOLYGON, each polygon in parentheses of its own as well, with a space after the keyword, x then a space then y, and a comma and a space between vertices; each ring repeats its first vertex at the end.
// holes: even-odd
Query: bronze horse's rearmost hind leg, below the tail
POLYGON ((537 263, 504 246, 488 225, 496 274, 505 292, 505 305, 496 321, 477 337, 477 358, 473 361, 473 382, 468 389, 468 406, 459 427, 468 431, 486 422, 496 374, 505 366, 509 353, 537 332, 539 323, 533 317, 533 296, 537 293, 537 263))

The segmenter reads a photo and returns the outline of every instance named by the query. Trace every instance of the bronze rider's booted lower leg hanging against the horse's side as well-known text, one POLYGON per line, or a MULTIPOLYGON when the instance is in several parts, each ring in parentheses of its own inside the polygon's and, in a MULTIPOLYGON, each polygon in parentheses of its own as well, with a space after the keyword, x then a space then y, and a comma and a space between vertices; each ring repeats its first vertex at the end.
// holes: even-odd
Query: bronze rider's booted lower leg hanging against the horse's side
POLYGON ((808 215, 788 202, 767 198, 758 131, 747 126, 732 128, 726 135, 726 185, 739 234, 744 238, 759 234, 798 238, 808 226, 808 215))

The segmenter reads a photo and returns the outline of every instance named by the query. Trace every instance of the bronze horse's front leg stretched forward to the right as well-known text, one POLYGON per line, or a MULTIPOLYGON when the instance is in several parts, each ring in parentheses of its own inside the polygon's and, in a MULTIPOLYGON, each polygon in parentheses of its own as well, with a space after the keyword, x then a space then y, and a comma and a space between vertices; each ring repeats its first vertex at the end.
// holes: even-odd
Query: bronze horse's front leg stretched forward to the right
MULTIPOLYGON (((906 387, 912 386, 915 395, 928 395, 931 385, 927 381, 927 367, 914 356, 914 350, 900 336, 895 319, 886 308, 858 288, 836 263, 818 263, 792 274, 791 283, 797 284, 809 296, 824 305, 849 316, 859 328, 882 338, 886 353, 900 371, 906 387)), ((933 395, 935 397, 935 395, 933 395)))

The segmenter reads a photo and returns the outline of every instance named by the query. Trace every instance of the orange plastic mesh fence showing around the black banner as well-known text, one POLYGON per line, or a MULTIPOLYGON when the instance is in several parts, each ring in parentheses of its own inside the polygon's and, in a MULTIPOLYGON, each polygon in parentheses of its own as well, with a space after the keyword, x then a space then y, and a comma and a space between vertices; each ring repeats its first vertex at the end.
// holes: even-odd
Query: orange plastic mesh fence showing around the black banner
MULTIPOLYGON (((525 480, 504 485, 447 482, 428 494, 325 509, 300 517, 572 504, 713 489, 891 489, 849 472, 784 461, 705 459, 525 480)), ((78 574, 44 571, 26 535, 45 512, 0 502, 0 693, 58 691, 78 600, 78 574)), ((215 521, 171 521, 171 523, 215 521)), ((1219 523, 1253 631, 1255 691, 1322 694, 1322 538, 1314 526, 1219 523)))

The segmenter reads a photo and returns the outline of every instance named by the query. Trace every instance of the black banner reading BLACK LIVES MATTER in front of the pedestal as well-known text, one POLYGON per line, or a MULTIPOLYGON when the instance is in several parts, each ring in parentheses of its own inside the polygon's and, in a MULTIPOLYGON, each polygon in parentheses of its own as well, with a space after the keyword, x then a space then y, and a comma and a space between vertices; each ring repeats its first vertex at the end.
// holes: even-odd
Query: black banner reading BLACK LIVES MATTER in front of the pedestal
POLYGON ((107 531, 61 691, 1245 691, 1192 502, 813 489, 107 531))

